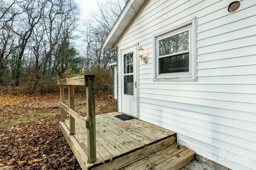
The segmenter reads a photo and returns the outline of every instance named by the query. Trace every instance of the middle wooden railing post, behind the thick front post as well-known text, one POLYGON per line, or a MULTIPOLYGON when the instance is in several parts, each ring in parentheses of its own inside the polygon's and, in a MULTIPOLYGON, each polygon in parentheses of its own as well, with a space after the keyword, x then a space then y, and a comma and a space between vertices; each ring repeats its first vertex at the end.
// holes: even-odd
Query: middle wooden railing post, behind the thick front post
MULTIPOLYGON (((69 85, 68 86, 68 102, 69 107, 75 111, 75 86, 69 85)), ((69 134, 75 134, 75 118, 69 115, 69 134)))

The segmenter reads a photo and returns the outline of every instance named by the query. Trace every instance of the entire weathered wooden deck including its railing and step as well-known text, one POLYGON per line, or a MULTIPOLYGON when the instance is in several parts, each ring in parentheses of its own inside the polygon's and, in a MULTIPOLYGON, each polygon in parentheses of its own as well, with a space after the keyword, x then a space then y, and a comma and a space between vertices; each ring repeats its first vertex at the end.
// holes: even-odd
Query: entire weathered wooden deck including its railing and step
POLYGON ((175 132, 135 118, 115 117, 121 113, 95 115, 94 78, 81 75, 58 80, 60 129, 82 169, 179 170, 194 159, 194 151, 176 143, 175 132), (68 105, 64 86, 68 86, 68 105), (75 86, 86 87, 87 117, 75 112, 75 86))

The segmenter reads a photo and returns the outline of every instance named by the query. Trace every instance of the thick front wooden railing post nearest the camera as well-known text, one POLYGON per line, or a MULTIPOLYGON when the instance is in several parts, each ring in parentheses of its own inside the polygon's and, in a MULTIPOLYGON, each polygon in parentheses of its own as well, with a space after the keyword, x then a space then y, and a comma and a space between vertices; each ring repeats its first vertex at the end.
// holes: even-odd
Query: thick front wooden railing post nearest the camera
POLYGON ((87 145, 88 162, 96 161, 96 126, 95 126, 95 98, 94 98, 94 78, 95 75, 85 75, 86 101, 87 101, 87 145))

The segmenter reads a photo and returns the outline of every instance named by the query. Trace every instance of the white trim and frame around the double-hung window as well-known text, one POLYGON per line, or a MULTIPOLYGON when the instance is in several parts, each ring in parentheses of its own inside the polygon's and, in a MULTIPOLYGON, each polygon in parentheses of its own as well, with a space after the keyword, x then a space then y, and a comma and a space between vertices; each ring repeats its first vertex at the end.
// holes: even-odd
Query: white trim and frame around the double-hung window
MULTIPOLYGON (((166 30, 164 32, 158 33, 153 36, 154 42, 154 57, 153 57, 153 70, 154 70, 154 81, 196 81, 196 19, 190 20, 186 23, 183 23, 177 27, 166 30), (170 36, 177 35, 178 33, 185 32, 189 30, 189 71, 188 72, 177 72, 177 73, 162 73, 158 74, 158 41, 170 36)), ((181 52, 185 53, 185 52, 181 52)), ((172 56, 177 55, 178 53, 166 55, 172 56)))

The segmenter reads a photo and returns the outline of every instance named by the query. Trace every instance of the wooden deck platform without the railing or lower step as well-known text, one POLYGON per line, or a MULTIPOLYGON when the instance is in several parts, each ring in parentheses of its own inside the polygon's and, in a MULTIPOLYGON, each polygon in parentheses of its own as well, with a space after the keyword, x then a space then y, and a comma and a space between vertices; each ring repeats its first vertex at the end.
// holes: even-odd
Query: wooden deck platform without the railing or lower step
POLYGON ((76 133, 69 135, 69 121, 60 129, 83 169, 120 169, 152 152, 176 143, 176 133, 137 119, 122 121, 108 113, 96 115, 97 160, 87 160, 87 129, 76 122, 76 133))

